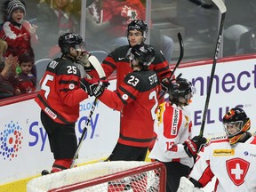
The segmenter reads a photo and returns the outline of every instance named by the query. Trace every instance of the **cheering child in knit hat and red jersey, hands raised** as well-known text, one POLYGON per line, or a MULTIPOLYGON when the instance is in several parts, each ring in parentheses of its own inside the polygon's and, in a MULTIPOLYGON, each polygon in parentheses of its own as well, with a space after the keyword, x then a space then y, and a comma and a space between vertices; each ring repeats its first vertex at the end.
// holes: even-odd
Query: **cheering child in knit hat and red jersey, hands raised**
POLYGON ((24 20, 25 4, 20 0, 8 0, 4 4, 7 4, 6 12, 8 14, 0 31, 0 38, 3 38, 8 44, 8 50, 4 56, 10 54, 19 56, 26 52, 34 55, 30 40, 32 43, 37 42, 36 26, 30 25, 27 20, 24 20))

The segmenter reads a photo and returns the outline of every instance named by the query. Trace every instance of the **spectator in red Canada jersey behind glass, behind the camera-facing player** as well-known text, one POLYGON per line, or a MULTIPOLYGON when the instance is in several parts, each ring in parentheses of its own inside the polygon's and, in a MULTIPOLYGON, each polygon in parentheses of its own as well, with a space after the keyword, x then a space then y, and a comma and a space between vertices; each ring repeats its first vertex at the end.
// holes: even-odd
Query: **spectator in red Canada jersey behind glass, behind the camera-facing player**
MULTIPOLYGON (((86 14, 86 24, 89 25, 86 28, 87 35, 91 36, 92 43, 97 42, 101 46, 103 44, 107 47, 107 52, 113 51, 118 46, 128 44, 126 39, 127 24, 132 20, 146 19, 146 9, 140 0, 97 0, 87 8, 87 12, 91 14, 91 18, 89 17, 90 14, 86 14)), ((150 36, 150 44, 154 45, 157 50, 162 50, 170 63, 173 49, 172 38, 160 36, 160 32, 156 28, 151 28, 150 35, 152 35, 150 36)), ((95 48, 89 47, 89 49, 95 48)))

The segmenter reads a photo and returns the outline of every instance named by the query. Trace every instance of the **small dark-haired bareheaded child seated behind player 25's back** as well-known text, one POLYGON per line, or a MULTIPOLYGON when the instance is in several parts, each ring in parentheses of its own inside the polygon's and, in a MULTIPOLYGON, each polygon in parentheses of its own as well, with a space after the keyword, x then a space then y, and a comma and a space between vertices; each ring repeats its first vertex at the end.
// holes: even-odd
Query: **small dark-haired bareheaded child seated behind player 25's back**
POLYGON ((34 58, 29 54, 20 54, 20 74, 18 75, 18 84, 15 90, 16 94, 23 94, 27 92, 35 92, 36 77, 32 74, 32 67, 34 65, 34 58))

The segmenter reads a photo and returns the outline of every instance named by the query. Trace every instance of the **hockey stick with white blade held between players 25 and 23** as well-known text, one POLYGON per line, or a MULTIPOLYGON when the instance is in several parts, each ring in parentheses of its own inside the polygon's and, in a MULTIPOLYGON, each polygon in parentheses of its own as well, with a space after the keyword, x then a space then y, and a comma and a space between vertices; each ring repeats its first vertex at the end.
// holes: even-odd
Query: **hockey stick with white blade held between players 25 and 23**
MULTIPOLYGON (((101 67, 100 65, 100 61, 94 56, 94 55, 90 55, 90 57, 88 58, 88 60, 90 61, 90 63, 92 64, 93 68, 95 68, 95 70, 97 71, 98 75, 100 76, 100 78, 104 78, 106 75, 105 75, 105 72, 103 70, 103 68, 101 67)), ((81 83, 81 82, 80 82, 81 83)), ((82 83, 81 83, 82 84, 82 83)), ((97 104, 98 100, 97 98, 95 98, 95 100, 93 101, 92 103, 92 109, 90 111, 90 114, 87 118, 87 121, 85 123, 85 126, 84 126, 84 130, 83 130, 83 133, 81 135, 81 138, 79 140, 79 143, 77 145, 77 148, 76 148, 76 153, 72 159, 72 162, 71 162, 71 165, 70 165, 70 168, 73 168, 75 163, 76 163, 76 158, 78 157, 78 153, 80 151, 80 148, 82 146, 82 143, 84 141, 84 138, 85 138, 85 135, 86 135, 86 132, 87 132, 87 127, 88 125, 90 124, 91 122, 91 119, 92 119, 92 114, 96 108, 96 104, 97 104)))

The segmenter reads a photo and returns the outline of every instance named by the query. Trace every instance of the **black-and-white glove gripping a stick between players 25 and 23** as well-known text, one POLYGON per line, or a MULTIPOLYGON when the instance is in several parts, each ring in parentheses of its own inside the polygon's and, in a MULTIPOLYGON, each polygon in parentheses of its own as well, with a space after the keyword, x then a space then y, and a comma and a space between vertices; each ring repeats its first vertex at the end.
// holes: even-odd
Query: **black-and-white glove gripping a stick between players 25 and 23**
POLYGON ((108 87, 109 82, 106 78, 98 80, 84 77, 80 84, 81 88, 88 92, 90 96, 99 97, 105 91, 105 88, 108 87))

